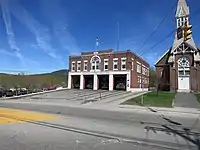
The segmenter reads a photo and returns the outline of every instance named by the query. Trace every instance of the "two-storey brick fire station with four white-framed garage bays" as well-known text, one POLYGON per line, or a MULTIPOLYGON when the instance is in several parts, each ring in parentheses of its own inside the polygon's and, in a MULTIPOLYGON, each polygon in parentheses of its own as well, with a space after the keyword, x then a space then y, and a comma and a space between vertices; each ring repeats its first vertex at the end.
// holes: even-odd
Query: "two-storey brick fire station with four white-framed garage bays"
POLYGON ((147 90, 149 64, 131 50, 101 50, 69 56, 69 89, 147 90))

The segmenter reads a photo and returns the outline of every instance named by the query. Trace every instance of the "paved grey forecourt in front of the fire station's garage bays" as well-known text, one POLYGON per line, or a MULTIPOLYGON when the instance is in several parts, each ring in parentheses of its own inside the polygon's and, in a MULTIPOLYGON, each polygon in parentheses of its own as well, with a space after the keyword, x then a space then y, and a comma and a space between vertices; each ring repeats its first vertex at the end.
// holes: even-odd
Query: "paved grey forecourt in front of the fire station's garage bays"
POLYGON ((133 95, 134 93, 126 91, 106 91, 106 90, 76 90, 67 89, 62 91, 44 93, 39 95, 33 95, 20 99, 13 99, 7 101, 20 101, 20 102, 32 102, 32 103, 51 103, 51 104, 63 104, 63 105, 85 105, 88 103, 95 103, 99 101, 109 102, 120 98, 133 95))

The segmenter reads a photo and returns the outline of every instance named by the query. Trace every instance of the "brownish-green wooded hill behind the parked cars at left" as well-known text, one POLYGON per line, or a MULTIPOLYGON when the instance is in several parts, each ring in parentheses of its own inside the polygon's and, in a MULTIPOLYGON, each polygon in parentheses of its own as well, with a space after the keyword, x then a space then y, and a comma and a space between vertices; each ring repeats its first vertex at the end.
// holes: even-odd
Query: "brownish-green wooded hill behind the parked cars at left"
POLYGON ((0 86, 2 88, 46 88, 49 86, 66 86, 68 70, 58 70, 45 74, 13 75, 0 73, 0 86))

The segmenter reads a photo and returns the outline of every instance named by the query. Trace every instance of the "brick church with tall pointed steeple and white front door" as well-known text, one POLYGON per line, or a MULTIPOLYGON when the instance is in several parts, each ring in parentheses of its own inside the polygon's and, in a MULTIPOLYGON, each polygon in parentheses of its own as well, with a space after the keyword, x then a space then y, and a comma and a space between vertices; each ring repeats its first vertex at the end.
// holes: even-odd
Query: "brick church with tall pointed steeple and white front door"
POLYGON ((200 47, 195 44, 191 34, 190 9, 186 0, 178 1, 176 22, 173 45, 155 64, 158 88, 166 91, 199 92, 200 47))

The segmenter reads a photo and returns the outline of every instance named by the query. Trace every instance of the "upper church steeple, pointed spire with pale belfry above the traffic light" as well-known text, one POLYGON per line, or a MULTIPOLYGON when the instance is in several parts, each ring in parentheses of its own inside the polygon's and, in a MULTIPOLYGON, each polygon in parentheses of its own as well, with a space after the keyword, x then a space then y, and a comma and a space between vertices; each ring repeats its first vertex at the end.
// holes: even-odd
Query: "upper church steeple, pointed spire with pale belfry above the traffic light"
POLYGON ((189 15, 190 10, 186 3, 186 0, 179 0, 176 10, 177 28, 185 25, 185 23, 189 24, 189 15))

